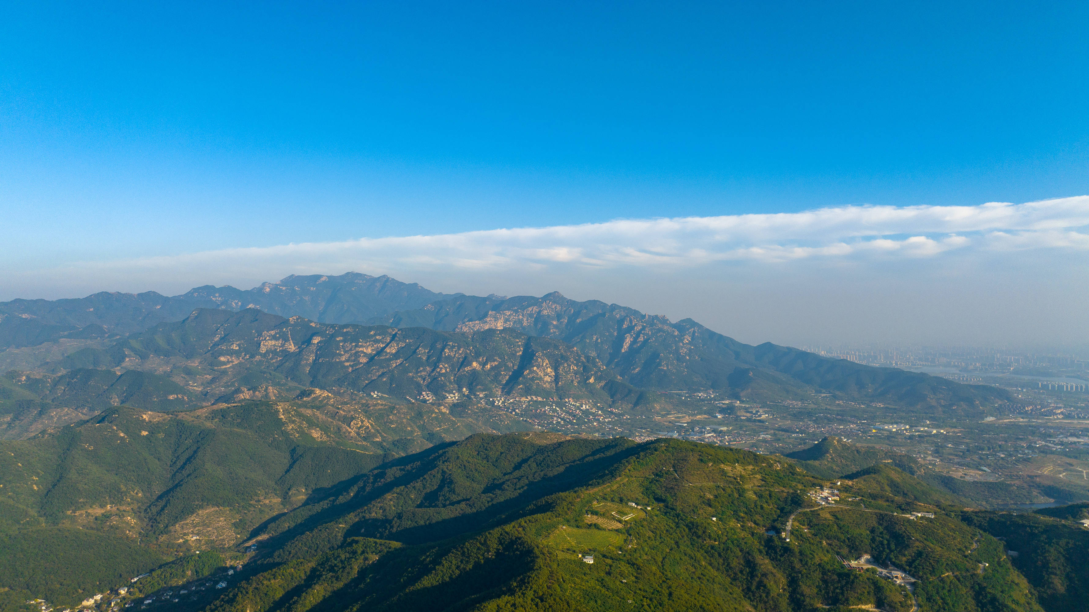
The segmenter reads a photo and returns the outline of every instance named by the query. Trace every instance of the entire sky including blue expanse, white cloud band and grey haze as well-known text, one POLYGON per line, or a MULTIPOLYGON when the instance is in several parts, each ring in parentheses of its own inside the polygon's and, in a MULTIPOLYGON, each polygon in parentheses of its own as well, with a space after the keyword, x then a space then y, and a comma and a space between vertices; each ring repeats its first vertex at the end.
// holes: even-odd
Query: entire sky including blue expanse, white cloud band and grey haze
POLYGON ((16 5, 0 299, 359 271, 1082 345, 1087 10, 16 5))

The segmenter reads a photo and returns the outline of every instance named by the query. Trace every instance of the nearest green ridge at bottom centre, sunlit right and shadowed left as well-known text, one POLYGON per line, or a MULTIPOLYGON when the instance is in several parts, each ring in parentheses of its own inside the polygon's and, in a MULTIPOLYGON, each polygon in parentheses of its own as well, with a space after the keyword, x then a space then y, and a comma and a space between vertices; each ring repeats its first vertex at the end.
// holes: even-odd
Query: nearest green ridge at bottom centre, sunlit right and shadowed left
POLYGON ((270 524, 262 561, 210 610, 1039 610, 993 538, 877 500, 798 513, 820 484, 697 443, 476 436, 270 524), (628 503, 620 528, 586 521, 628 503), (794 515, 790 541, 764 534, 794 515), (836 554, 896 564, 915 595, 836 554))

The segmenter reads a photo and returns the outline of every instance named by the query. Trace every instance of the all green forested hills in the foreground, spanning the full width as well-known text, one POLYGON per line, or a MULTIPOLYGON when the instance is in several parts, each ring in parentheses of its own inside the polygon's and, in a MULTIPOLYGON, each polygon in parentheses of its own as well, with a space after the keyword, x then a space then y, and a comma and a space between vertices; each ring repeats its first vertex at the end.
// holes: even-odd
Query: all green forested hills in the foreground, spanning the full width
MULTIPOLYGON (((877 463, 830 480, 799 467, 813 460, 544 432, 432 437, 425 450, 411 445, 416 433, 381 453, 303 403, 119 407, 0 442, 0 548, 21 560, 0 587, 74 602, 178 554, 219 550, 242 572, 179 561, 192 568, 162 570, 133 592, 189 589, 156 612, 1014 611, 1041 610, 1038 598, 1057 612, 1069 609, 1063 592, 1081 589, 1063 561, 1068 523, 1026 529, 1024 518, 960 511, 949 492, 840 441, 808 455, 877 463), (817 503, 821 487, 841 501, 817 503), (1050 547, 1054 561, 1023 567, 1026 582, 1023 560, 1011 565, 992 535, 1050 547), (96 563, 45 562, 84 550, 96 563), (905 572, 911 589, 837 555, 905 572), (208 583, 209 572, 219 577, 208 583), (209 588, 217 580, 225 590, 209 588)), ((405 416, 403 426, 426 420, 405 416)))

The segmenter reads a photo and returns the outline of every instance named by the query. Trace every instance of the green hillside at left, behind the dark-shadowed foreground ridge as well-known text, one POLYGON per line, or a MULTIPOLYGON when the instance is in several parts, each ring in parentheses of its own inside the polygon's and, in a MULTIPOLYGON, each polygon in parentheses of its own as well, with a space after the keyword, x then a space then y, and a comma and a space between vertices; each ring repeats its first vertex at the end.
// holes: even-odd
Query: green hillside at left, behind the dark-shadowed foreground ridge
POLYGON ((115 406, 0 441, 0 556, 19 564, 0 563, 0 593, 73 603, 178 554, 231 550, 339 482, 481 427, 420 404, 325 400, 115 406))

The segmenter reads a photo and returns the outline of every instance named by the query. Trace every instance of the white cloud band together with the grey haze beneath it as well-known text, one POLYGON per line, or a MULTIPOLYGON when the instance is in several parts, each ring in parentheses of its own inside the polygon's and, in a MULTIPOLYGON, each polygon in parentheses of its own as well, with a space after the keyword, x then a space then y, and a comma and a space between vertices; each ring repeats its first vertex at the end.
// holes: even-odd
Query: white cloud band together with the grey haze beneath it
POLYGON ((629 219, 10 270, 0 297, 174 295, 356 271, 443 293, 560 291, 693 318, 754 344, 1080 346, 1089 322, 1069 305, 1089 297, 1079 273, 1087 223, 1086 196, 629 219))

